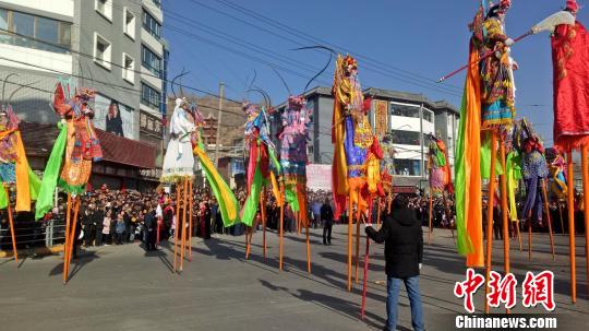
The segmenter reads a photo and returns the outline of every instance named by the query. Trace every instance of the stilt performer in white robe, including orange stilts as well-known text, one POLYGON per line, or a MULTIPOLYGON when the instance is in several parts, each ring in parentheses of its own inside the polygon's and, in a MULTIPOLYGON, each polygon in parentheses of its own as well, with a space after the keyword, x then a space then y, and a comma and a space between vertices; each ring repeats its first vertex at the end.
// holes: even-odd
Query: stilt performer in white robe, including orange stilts
MULTIPOLYGON (((177 75, 171 82, 172 93, 175 81, 184 75, 177 75)), ((173 272, 182 272, 184 264, 184 251, 187 241, 187 212, 189 203, 189 185, 194 177, 194 155, 192 150, 193 134, 196 131, 193 115, 191 114, 189 102, 185 97, 176 98, 176 107, 170 119, 169 128, 170 141, 164 157, 161 169, 161 182, 173 184, 176 186, 176 221, 173 238, 173 272), (179 262, 178 262, 179 258, 179 262)), ((192 220, 189 220, 189 222, 192 220)), ((192 234, 190 234, 192 235, 192 234)), ((188 240, 187 240, 188 239, 188 240)))

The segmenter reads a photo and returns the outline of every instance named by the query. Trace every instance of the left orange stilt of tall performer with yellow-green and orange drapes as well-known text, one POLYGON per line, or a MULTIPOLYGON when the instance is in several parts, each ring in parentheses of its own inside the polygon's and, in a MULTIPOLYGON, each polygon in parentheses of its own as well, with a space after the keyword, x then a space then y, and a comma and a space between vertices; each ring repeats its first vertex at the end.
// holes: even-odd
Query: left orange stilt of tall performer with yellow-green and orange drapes
POLYGON ((491 275, 491 250, 493 248, 493 204, 495 202, 495 158, 497 149, 497 135, 495 132, 491 133, 491 174, 489 175, 489 197, 486 199, 486 260, 485 260, 485 285, 484 285, 484 312, 489 314, 489 300, 486 300, 486 294, 489 294, 489 281, 491 275))

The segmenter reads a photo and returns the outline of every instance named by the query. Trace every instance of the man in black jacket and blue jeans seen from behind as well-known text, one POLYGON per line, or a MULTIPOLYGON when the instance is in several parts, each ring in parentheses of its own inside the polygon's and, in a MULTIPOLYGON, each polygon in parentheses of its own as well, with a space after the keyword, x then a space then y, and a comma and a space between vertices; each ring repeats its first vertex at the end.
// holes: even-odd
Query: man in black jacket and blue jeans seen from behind
POLYGON ((407 197, 397 196, 393 213, 385 216, 380 230, 372 228, 372 224, 366 224, 366 235, 376 243, 385 243, 388 319, 384 330, 389 331, 396 330, 397 327, 397 300, 401 282, 405 283, 411 304, 413 330, 423 330, 423 308, 419 293, 423 233, 416 213, 407 205, 407 197))

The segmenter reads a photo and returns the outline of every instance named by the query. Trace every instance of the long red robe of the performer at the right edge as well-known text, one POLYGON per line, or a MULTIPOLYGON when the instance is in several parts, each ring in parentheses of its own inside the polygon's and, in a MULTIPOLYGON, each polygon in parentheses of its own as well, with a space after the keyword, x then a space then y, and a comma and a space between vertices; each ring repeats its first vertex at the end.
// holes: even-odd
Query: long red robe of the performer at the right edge
MULTIPOLYGON (((575 1, 569 10, 577 11, 575 1)), ((580 22, 556 26, 554 68, 554 146, 570 151, 589 141, 589 34, 580 22)))

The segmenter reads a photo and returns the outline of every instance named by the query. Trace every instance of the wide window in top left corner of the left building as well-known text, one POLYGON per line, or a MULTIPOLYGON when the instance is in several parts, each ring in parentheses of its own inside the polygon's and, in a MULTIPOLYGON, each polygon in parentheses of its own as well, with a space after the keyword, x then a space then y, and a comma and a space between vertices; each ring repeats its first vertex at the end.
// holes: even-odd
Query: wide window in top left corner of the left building
POLYGON ((68 54, 71 26, 67 22, 0 9, 0 44, 68 54))

